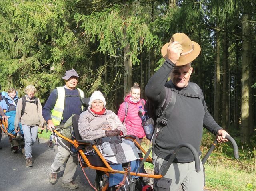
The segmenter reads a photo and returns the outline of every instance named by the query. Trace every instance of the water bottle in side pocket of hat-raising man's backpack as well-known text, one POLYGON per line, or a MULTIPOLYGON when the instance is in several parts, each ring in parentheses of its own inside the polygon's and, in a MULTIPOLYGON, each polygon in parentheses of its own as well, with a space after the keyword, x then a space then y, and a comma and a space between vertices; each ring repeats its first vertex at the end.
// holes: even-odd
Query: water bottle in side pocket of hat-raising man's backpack
POLYGON ((146 138, 151 140, 152 134, 153 134, 153 131, 154 131, 154 127, 152 125, 151 120, 149 120, 150 117, 148 116, 147 111, 144 110, 142 108, 142 106, 139 106, 138 115, 140 116, 140 119, 141 119, 141 122, 142 122, 142 127, 143 127, 143 130, 144 130, 145 134, 146 134, 146 138))

